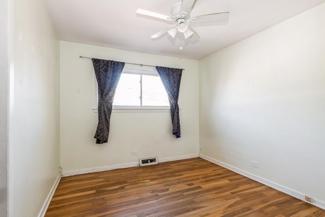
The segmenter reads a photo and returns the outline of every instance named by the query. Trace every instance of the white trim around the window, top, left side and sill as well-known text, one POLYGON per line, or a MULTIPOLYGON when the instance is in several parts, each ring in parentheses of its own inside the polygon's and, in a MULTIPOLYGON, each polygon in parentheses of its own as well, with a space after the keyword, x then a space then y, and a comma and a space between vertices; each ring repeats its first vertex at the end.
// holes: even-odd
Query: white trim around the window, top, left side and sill
MULTIPOLYGON (((155 67, 125 64, 122 73, 159 76, 155 67), (141 73, 139 73, 141 71, 141 73)), ((98 112, 98 84, 93 76, 93 112, 98 112)), ((169 106, 114 106, 112 112, 170 112, 169 106)))

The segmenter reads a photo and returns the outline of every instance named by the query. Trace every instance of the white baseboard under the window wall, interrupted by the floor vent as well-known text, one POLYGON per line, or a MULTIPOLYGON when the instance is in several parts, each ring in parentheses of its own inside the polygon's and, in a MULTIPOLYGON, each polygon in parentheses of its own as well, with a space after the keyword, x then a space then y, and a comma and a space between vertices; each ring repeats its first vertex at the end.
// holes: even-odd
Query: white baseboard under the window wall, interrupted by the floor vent
MULTIPOLYGON (((171 158, 161 158, 161 159, 158 159, 158 163, 185 160, 185 159, 190 159, 190 158, 199 158, 199 154, 191 154, 191 155, 177 156, 177 157, 171 157, 171 158)), ((94 173, 94 172, 116 170, 116 169, 138 167, 138 166, 140 166, 139 162, 116 164, 116 165, 104 166, 104 167, 94 167, 94 168, 88 168, 88 169, 65 171, 65 172, 62 172, 62 176, 65 177, 65 176, 72 176, 72 175, 81 175, 81 174, 86 174, 86 173, 94 173)))

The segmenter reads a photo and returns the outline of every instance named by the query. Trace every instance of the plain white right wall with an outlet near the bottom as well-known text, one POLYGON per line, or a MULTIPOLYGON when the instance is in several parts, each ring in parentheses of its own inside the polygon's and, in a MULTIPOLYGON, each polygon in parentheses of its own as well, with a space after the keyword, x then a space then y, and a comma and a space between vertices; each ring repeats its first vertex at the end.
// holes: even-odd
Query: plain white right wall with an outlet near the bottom
POLYGON ((324 26, 322 4, 200 60, 202 154, 325 201, 324 26))

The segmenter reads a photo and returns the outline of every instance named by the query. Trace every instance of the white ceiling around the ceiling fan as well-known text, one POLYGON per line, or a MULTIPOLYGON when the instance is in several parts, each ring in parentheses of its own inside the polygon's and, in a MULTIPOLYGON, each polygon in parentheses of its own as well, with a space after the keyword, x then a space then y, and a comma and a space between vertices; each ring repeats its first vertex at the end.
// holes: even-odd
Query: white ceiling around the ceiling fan
MULTIPOLYGON (((186 1, 186 0, 184 0, 186 1)), ((228 23, 193 23, 201 37, 184 40, 177 34, 151 39, 168 21, 137 15, 138 8, 170 15, 179 0, 45 0, 58 38, 160 55, 201 59, 325 0, 197 0, 191 17, 230 12, 228 23), (180 50, 179 47, 183 49, 180 50)))

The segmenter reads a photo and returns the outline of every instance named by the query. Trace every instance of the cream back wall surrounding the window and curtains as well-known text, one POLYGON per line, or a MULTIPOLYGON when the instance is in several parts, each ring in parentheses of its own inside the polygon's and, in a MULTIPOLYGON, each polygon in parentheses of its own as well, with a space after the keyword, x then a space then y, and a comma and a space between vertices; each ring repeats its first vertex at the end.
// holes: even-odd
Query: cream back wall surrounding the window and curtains
POLYGON ((60 65, 62 171, 198 153, 199 61, 61 41, 60 65), (170 112, 113 112, 108 143, 96 145, 94 71, 91 60, 79 55, 184 68, 179 94, 181 138, 172 135, 170 112), (138 156, 131 156, 133 150, 138 151, 138 156))

